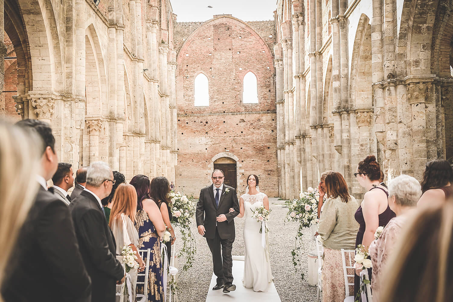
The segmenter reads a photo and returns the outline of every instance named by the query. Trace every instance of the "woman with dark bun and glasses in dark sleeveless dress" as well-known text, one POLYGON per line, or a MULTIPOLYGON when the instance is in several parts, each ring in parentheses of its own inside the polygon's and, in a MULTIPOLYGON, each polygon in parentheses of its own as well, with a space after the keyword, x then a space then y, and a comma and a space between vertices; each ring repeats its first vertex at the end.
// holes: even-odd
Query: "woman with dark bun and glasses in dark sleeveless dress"
MULTIPOLYGON (((395 217, 395 213, 390 209, 388 202, 388 191, 383 187, 379 180, 381 179, 381 167, 376 162, 374 155, 368 155, 357 165, 356 173, 354 173, 359 184, 366 189, 363 196, 363 201, 354 215, 359 223, 359 231, 356 237, 356 247, 359 244, 365 246, 366 249, 374 240, 374 234, 379 226, 385 226, 390 219, 395 217)), ((356 271, 354 279, 354 297, 360 289, 360 272, 356 271)), ((368 275, 371 278, 371 271, 368 275)))

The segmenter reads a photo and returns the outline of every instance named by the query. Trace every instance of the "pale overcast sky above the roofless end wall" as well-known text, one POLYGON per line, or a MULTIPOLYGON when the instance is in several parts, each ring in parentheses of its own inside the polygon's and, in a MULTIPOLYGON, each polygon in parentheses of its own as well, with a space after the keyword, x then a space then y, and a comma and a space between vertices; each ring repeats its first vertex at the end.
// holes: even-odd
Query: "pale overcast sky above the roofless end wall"
POLYGON ((170 3, 178 22, 207 21, 215 14, 232 14, 243 21, 273 20, 277 8, 277 0, 170 0, 170 3))

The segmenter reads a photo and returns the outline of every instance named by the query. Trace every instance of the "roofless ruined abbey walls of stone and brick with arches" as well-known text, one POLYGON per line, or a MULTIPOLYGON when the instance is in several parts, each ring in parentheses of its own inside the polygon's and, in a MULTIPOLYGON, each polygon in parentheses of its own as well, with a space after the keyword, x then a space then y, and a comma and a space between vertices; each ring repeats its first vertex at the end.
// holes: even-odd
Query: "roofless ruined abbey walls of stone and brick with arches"
POLYGON ((367 154, 418 179, 453 157, 453 0, 278 0, 253 22, 178 23, 173 9, 0 0, 0 115, 49 122, 75 167, 103 160, 194 195, 216 167, 239 192, 257 174, 285 199, 333 169, 360 198, 367 154))

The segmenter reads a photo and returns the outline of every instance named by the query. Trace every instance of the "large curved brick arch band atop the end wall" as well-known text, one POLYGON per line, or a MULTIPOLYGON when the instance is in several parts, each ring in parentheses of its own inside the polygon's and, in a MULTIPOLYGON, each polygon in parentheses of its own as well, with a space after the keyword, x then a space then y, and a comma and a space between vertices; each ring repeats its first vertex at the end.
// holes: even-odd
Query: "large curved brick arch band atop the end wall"
POLYGON ((186 41, 183 43, 181 49, 179 50, 178 57, 177 57, 177 66, 178 66, 178 72, 177 74, 182 75, 183 68, 181 68, 181 61, 183 60, 183 55, 186 53, 187 48, 189 47, 190 43, 192 43, 193 39, 198 36, 198 34, 202 33, 209 27, 211 27, 214 24, 219 24, 219 23, 229 23, 229 24, 234 24, 241 26, 243 29, 246 29, 249 33, 251 33, 257 40, 260 41, 260 44, 265 50, 266 56, 269 61, 269 68, 271 72, 274 72, 274 59, 272 58, 272 53, 270 52, 269 47, 267 46, 267 43, 263 40, 263 38, 260 37, 258 33, 255 32, 254 29, 252 29, 246 22, 234 18, 232 16, 221 16, 217 17, 215 19, 211 19, 206 21, 202 26, 200 26, 198 29, 194 30, 192 34, 188 36, 186 41))

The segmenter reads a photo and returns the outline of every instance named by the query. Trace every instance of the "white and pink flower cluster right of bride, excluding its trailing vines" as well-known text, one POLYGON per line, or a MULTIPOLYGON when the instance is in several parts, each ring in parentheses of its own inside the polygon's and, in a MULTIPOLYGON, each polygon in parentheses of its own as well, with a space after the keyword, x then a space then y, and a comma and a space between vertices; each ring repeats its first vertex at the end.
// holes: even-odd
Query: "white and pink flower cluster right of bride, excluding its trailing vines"
POLYGON ((299 221, 301 227, 310 227, 318 222, 318 188, 309 187, 299 194, 299 199, 286 201, 289 207, 287 221, 299 221))

